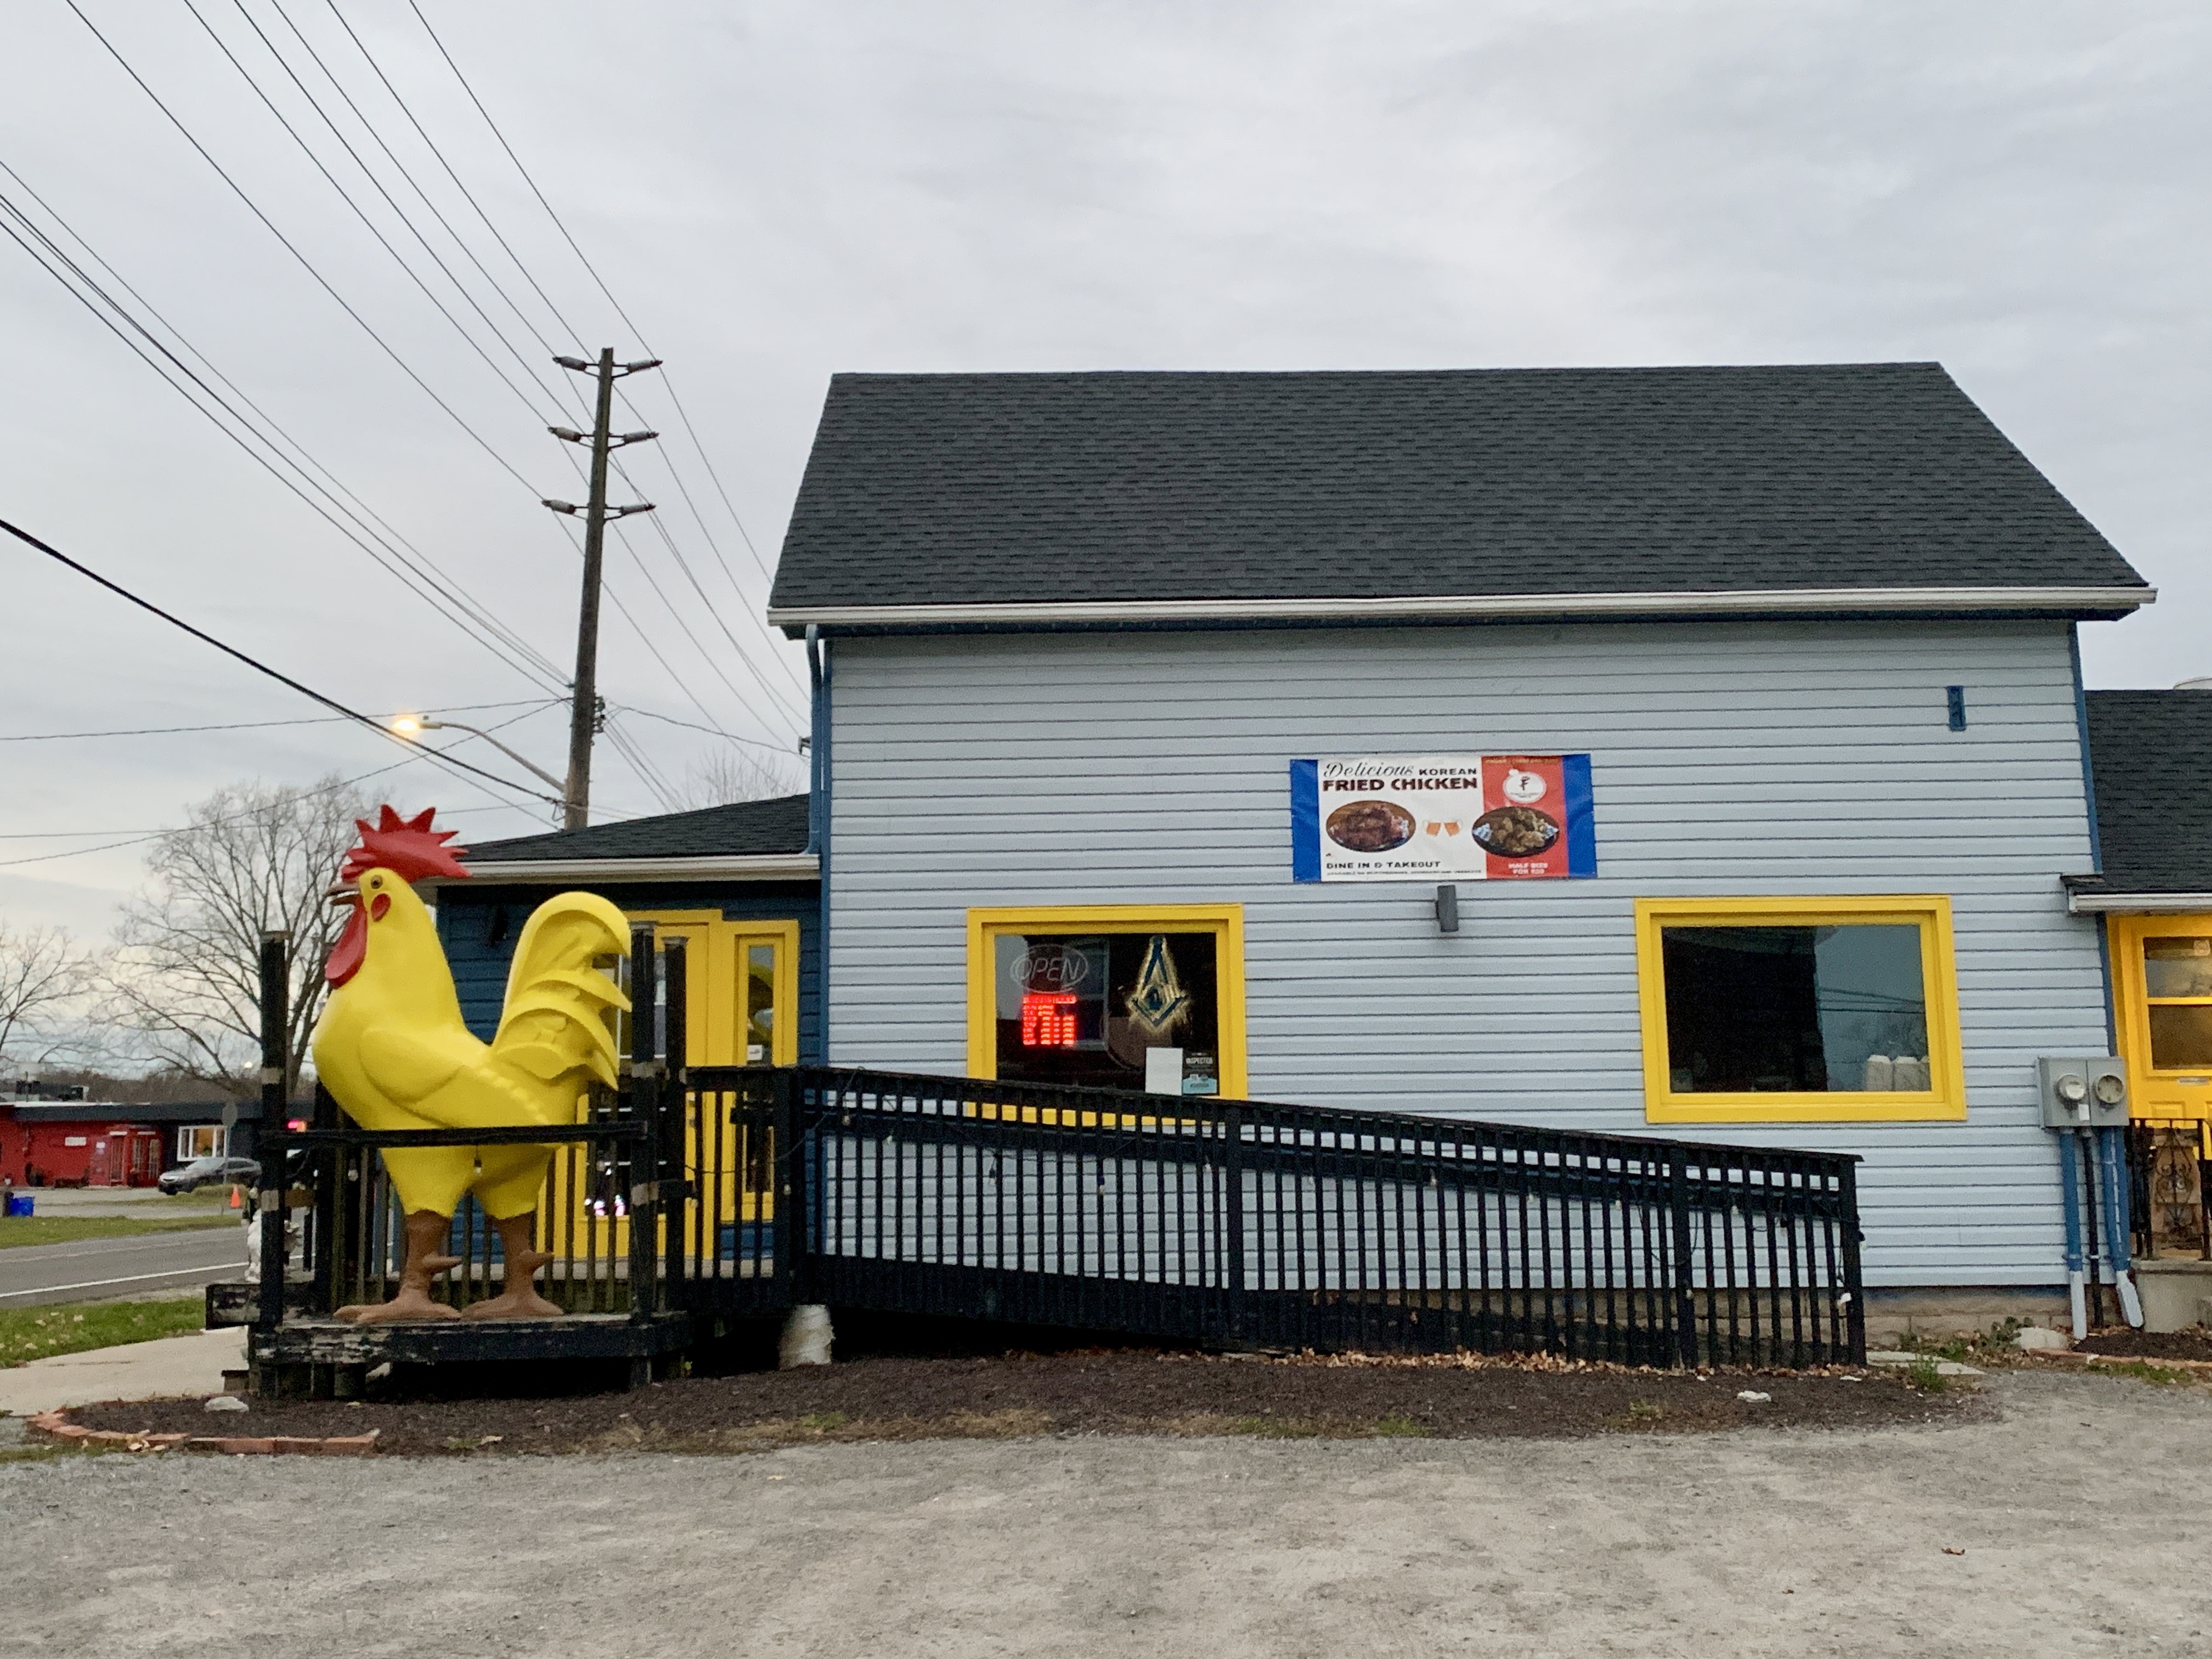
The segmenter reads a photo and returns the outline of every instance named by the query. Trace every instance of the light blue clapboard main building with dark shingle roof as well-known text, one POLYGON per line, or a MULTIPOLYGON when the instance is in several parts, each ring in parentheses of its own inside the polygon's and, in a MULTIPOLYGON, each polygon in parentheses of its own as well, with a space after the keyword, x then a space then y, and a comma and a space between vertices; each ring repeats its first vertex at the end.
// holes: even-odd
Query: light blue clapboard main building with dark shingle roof
POLYGON ((1869 1285, 2017 1307, 2150 599, 1931 363, 838 376, 807 1046, 1860 1152, 1869 1285))

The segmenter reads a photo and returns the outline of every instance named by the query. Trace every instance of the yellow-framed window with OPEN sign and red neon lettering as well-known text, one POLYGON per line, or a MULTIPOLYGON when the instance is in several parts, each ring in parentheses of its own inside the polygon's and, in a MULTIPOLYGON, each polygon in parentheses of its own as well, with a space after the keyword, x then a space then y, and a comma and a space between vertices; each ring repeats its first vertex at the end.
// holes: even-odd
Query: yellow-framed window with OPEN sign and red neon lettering
POLYGON ((969 1075, 1245 1091, 1241 905, 969 911, 969 1075))

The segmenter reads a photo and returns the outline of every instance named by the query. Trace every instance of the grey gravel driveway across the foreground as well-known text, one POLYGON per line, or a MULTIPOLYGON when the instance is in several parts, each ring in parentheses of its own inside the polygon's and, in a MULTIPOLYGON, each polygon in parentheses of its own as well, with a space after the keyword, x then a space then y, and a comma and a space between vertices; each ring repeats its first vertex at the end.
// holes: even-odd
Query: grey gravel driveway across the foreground
POLYGON ((2212 1655, 2212 1389, 1989 1387, 1940 1429, 0 1464, 0 1652, 2212 1655))

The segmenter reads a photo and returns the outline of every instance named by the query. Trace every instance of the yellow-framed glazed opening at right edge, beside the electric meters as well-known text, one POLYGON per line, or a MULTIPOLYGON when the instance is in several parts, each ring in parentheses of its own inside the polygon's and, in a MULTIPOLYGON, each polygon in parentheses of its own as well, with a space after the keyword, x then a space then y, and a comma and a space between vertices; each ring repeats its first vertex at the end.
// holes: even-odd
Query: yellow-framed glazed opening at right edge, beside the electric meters
POLYGON ((2108 927, 2135 1117, 2212 1119, 2212 916, 2112 916, 2108 927))

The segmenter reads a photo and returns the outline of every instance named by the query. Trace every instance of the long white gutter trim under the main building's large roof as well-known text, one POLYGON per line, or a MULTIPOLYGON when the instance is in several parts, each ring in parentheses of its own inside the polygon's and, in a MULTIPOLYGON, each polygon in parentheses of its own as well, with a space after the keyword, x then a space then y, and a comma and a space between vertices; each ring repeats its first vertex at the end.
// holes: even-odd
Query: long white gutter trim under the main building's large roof
POLYGON ((1652 617, 1807 611, 2135 611, 2157 588, 1767 588, 1728 593, 1475 593, 1394 599, 1086 599, 1068 604, 770 606, 779 628, 987 622, 1356 622, 1363 617, 1652 617))

